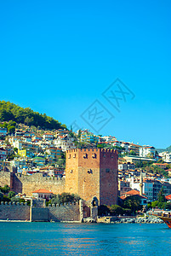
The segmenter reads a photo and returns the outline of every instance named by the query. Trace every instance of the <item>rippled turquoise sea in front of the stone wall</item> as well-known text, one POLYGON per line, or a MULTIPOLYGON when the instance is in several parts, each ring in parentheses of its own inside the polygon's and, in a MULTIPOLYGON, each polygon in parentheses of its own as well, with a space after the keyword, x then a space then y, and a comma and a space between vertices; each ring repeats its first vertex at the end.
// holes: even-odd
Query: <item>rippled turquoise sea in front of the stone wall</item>
POLYGON ((171 255, 166 224, 0 223, 0 255, 171 255))

